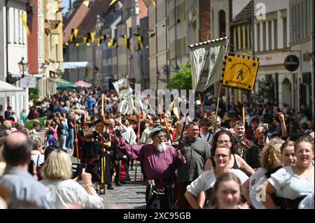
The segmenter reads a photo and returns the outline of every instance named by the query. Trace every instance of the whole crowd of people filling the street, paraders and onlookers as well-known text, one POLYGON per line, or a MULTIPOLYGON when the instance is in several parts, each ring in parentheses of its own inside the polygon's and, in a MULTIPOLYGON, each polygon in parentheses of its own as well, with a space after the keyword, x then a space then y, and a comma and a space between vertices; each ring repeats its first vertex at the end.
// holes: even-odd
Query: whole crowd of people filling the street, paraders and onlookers
POLYGON ((122 115, 119 104, 94 87, 30 101, 20 116, 8 106, 1 208, 104 208, 100 194, 128 184, 137 161, 148 209, 314 208, 314 119, 304 106, 246 100, 220 103, 216 115, 195 103, 190 119, 174 107, 122 115), (76 177, 73 160, 84 164, 76 177))

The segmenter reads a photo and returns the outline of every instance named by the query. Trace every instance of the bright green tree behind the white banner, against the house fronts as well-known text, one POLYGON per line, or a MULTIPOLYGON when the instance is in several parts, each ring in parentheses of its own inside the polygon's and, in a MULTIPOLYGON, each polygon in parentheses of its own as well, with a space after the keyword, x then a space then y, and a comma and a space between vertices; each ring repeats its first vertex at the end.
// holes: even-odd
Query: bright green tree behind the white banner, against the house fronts
POLYGON ((167 88, 171 89, 193 89, 191 80, 190 62, 181 65, 179 72, 174 73, 167 83, 167 88))

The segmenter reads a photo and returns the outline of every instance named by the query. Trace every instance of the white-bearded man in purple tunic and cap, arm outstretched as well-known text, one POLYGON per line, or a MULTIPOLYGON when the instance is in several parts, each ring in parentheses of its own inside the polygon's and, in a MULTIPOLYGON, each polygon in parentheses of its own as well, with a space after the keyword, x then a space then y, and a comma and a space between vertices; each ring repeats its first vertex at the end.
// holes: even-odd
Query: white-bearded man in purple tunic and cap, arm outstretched
POLYGON ((111 135, 111 141, 118 150, 130 158, 141 161, 146 172, 146 203, 148 209, 173 209, 175 170, 186 164, 186 159, 179 150, 165 144, 165 131, 162 127, 152 129, 150 145, 128 145, 123 138, 111 135), (162 192, 150 196, 149 180, 154 180, 155 191, 162 192))

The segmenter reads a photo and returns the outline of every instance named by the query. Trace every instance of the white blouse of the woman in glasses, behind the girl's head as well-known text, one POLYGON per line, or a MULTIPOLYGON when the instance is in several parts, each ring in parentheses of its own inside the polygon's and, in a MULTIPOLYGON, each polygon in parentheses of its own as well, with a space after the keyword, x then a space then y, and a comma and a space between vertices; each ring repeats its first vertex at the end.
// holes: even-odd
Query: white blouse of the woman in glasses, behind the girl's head
MULTIPOLYGON (((237 176, 237 178, 239 178, 239 180, 241 180, 241 184, 248 179, 248 176, 243 171, 234 168, 232 168, 231 171, 237 176)), ((215 183, 216 175, 214 175, 214 170, 205 171, 196 180, 191 182, 186 189, 194 196, 198 196, 201 192, 205 192, 209 188, 214 187, 215 183)))

